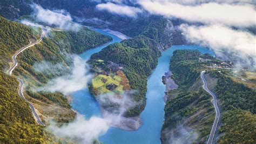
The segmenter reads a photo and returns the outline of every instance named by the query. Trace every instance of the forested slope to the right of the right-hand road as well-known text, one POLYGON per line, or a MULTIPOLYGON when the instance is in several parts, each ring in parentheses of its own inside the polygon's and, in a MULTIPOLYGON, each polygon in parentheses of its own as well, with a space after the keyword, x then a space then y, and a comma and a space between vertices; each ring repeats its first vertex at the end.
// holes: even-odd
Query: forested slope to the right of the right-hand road
POLYGON ((223 111, 219 143, 255 143, 256 92, 244 84, 235 83, 232 77, 210 72, 218 77, 214 92, 220 99, 223 111))

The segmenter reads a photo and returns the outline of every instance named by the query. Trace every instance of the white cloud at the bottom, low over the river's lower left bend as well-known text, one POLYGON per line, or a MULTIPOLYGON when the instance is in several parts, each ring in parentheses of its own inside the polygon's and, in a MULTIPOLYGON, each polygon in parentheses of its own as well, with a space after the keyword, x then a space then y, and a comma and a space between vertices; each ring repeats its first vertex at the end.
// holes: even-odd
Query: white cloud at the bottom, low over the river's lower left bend
POLYGON ((83 115, 78 114, 77 118, 69 124, 58 127, 53 123, 48 128, 60 138, 76 140, 79 143, 93 143, 109 129, 109 124, 103 118, 92 116, 86 120, 83 115))

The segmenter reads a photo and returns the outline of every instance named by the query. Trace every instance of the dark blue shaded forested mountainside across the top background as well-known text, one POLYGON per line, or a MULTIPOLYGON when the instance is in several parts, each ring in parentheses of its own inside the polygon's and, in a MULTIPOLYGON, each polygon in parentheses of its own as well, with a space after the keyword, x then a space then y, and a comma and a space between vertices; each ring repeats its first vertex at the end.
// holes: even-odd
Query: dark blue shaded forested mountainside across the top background
MULTIPOLYGON (((109 1, 101 1, 109 2, 109 1)), ((96 9, 97 1, 84 1, 84 0, 74 0, 74 1, 64 1, 63 0, 3 0, 0 2, 2 9, 0 9, 0 15, 9 18, 15 19, 20 16, 30 15, 33 12, 33 9, 29 4, 36 3, 41 5, 44 9, 64 9, 69 12, 72 16, 75 16, 75 20, 84 25, 93 26, 97 28, 109 28, 111 30, 116 30, 124 33, 130 37, 136 37, 141 33, 148 33, 149 35, 155 35, 156 32, 162 32, 161 35, 166 35, 167 32, 172 32, 172 43, 185 44, 185 38, 181 35, 181 31, 178 29, 169 29, 168 31, 158 31, 158 29, 165 28, 166 25, 161 25, 157 22, 159 16, 144 16, 138 15, 138 18, 131 18, 119 15, 113 15, 110 12, 99 11, 96 9), (53 6, 54 5, 54 6, 53 6), (100 20, 99 20, 100 19, 100 20), (159 25, 158 25, 159 24, 159 25), (153 26, 157 29, 149 29, 153 26), (150 31, 147 31, 150 30, 150 31), (152 33, 151 33, 152 32, 152 33)), ((127 5, 138 6, 130 1, 125 1, 127 5)), ((170 21, 170 28, 173 26, 178 26, 184 21, 181 19, 172 19, 170 21)), ((159 37, 162 37, 159 35, 159 37)), ((160 42, 160 41, 158 41, 160 42)), ((163 42, 161 42, 163 43, 163 42)), ((160 43, 159 43, 160 44, 160 43)))

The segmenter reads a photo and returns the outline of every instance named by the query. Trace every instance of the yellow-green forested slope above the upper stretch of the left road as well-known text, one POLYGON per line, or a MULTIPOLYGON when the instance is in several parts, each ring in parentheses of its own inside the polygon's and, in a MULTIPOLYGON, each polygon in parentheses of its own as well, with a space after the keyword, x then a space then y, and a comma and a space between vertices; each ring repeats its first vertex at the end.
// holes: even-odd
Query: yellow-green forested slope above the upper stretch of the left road
POLYGON ((11 22, 0 16, 0 67, 1 71, 9 69, 12 55, 30 42, 35 42, 40 37, 39 29, 11 22))

